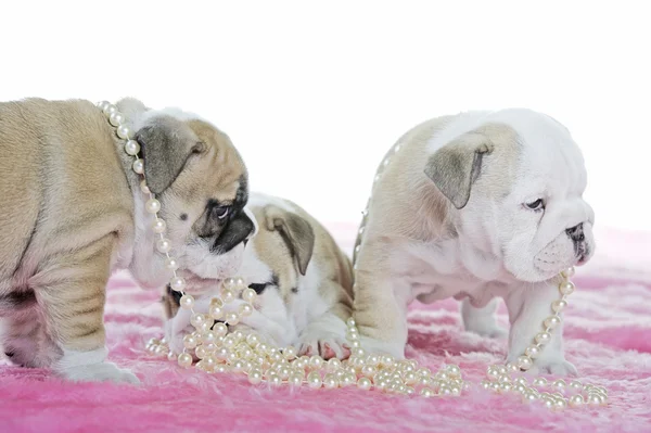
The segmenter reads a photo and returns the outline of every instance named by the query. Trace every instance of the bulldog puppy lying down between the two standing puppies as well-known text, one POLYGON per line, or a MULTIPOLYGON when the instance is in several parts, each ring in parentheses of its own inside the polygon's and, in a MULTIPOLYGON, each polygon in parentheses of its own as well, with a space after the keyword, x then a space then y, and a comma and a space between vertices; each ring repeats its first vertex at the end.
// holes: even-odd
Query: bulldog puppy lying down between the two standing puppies
MULTIPOLYGON (((297 346, 301 354, 319 354, 326 359, 348 356, 345 321, 353 305, 348 257, 323 226, 288 200, 253 193, 247 207, 259 231, 246 245, 237 275, 258 297, 254 313, 241 320, 242 326, 280 347, 297 346)), ((215 286, 197 298, 195 310, 207 311, 218 290, 215 286)), ((189 310, 179 309, 179 300, 180 294, 168 286, 163 298, 169 319, 165 329, 176 353, 183 348, 183 335, 194 330, 189 310)), ((239 303, 242 301, 229 306, 238 308, 239 303)))

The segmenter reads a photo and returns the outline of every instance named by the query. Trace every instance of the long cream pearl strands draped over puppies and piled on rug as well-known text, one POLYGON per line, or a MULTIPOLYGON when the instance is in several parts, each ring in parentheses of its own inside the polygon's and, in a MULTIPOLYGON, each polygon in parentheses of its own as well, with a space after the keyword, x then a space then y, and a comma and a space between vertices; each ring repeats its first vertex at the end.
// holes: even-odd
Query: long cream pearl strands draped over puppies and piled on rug
MULTIPOLYGON (((108 123, 116 128, 117 137, 126 140, 125 152, 135 157, 131 168, 142 179, 140 189, 149 196, 144 207, 154 217, 151 230, 159 237, 155 249, 165 255, 165 267, 173 272, 169 285, 173 290, 181 293, 180 306, 190 310, 190 322, 195 329, 194 332, 184 335, 183 351, 180 354, 170 351, 165 339, 150 340, 146 344, 149 354, 166 356, 169 360, 176 360, 180 367, 190 368, 193 357, 189 351, 194 351, 194 355, 199 358, 195 368, 208 373, 244 373, 247 375, 248 382, 254 385, 266 382, 270 385, 288 383, 292 386, 302 386, 307 383, 310 389, 315 390, 356 385, 365 391, 374 389, 392 394, 414 395, 418 392, 422 397, 459 396, 462 391, 470 389, 471 382, 463 380, 458 366, 444 366, 433 374, 426 367, 419 368, 418 361, 413 359, 396 361, 391 356, 367 354, 361 347, 359 331, 353 318, 346 321, 346 340, 352 347, 350 357, 343 361, 336 358, 326 361, 318 355, 299 357, 295 347, 289 346, 280 349, 272 342, 253 331, 247 333, 241 330, 229 332, 227 326, 235 326, 243 317, 253 313, 257 297, 256 292, 247 288, 242 278, 225 279, 219 296, 210 300, 208 311, 195 311, 194 297, 184 293, 186 281, 177 275, 178 260, 169 254, 171 243, 165 238, 167 226, 162 218, 158 218, 161 202, 146 186, 144 163, 139 157, 140 145, 132 139, 133 131, 126 125, 124 114, 119 113, 115 105, 102 101, 98 103, 98 107, 106 116, 108 123), (234 308, 229 307, 229 304, 238 296, 244 303, 235 311, 234 308)), ((399 149, 399 144, 396 144, 393 152, 395 153, 399 149)), ((390 156, 385 157, 382 167, 388 164, 388 158, 390 156)), ((381 173, 375 177, 375 181, 380 176, 381 173)), ((360 250, 368 206, 362 214, 363 220, 359 229, 360 237, 355 246, 355 254, 360 250)), ((357 265, 354 265, 354 269, 357 269, 357 265)), ((546 407, 553 409, 564 409, 569 405, 603 405, 607 403, 608 393, 603 386, 584 385, 578 381, 566 384, 562 379, 550 383, 545 378, 537 378, 529 385, 526 378, 513 375, 528 370, 545 344, 551 340, 551 332, 561 322, 560 313, 567 306, 567 296, 575 290, 574 284, 570 281, 573 275, 574 268, 561 272, 562 282, 559 285, 561 297, 551 304, 554 314, 545 319, 542 332, 535 336, 532 345, 525 349, 515 364, 488 367, 487 379, 481 382, 483 389, 500 394, 519 394, 524 402, 541 402, 546 407), (551 386, 550 391, 556 392, 552 394, 541 391, 546 386, 551 386), (577 394, 570 397, 563 394, 573 391, 577 394)))

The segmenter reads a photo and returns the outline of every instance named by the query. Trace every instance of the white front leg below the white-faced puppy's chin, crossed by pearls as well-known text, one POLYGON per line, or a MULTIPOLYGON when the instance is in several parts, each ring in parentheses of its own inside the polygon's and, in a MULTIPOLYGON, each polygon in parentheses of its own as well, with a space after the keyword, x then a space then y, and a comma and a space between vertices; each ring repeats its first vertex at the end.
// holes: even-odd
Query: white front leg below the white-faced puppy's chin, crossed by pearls
MULTIPOLYGON (((553 315, 551 303, 559 297, 558 286, 553 283, 524 286, 507 295, 505 301, 511 322, 508 362, 518 362, 518 357, 523 355, 528 346, 535 345, 535 336, 544 332, 545 319, 553 315)), ((529 371, 558 375, 576 374, 576 368, 565 360, 562 319, 535 357, 534 367, 529 371)))

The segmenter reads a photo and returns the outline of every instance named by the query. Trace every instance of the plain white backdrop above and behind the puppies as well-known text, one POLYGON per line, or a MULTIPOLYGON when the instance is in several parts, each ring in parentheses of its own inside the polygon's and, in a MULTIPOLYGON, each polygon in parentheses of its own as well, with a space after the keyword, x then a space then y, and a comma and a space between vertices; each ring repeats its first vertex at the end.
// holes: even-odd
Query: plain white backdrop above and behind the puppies
POLYGON ((527 106, 583 147, 598 225, 651 229, 643 5, 13 1, 0 100, 179 105, 231 136, 253 189, 331 221, 358 220, 382 154, 414 124, 527 106))

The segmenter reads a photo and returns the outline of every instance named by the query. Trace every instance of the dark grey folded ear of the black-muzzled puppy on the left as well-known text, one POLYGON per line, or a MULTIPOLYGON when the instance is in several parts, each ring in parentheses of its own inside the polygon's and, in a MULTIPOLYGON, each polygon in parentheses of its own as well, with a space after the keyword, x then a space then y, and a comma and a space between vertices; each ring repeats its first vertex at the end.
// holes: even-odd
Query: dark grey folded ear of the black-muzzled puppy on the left
POLYGON ((205 149, 186 123, 171 116, 152 118, 136 132, 136 140, 142 148, 146 184, 156 194, 169 188, 190 156, 205 149))

